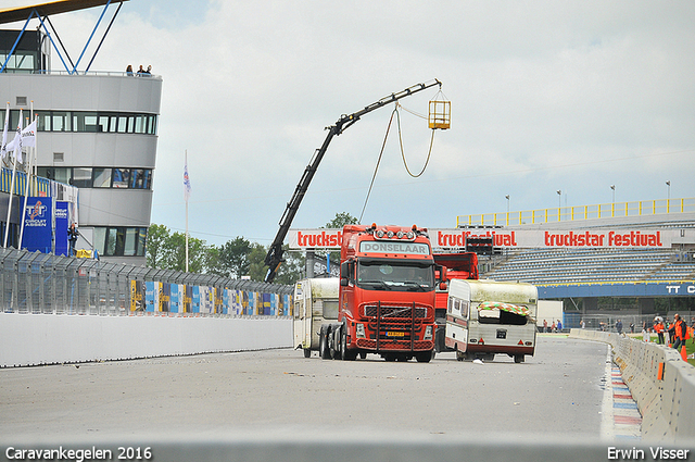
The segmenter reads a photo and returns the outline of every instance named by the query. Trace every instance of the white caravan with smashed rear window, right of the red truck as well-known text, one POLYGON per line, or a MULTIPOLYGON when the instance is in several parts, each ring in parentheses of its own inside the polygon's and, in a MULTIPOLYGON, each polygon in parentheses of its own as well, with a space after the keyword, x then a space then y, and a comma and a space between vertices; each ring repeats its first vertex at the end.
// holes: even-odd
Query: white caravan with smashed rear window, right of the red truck
POLYGON ((535 351, 536 310, 538 289, 530 284, 452 279, 446 347, 458 361, 506 353, 521 363, 535 351))

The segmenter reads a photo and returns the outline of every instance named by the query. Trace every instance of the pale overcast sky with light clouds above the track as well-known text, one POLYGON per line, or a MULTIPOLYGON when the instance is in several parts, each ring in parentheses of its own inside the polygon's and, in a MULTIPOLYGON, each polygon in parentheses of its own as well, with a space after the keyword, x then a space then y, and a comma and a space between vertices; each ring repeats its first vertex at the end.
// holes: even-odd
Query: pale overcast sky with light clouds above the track
MULTIPOLYGON (((51 18, 73 54, 101 10, 51 18)), ((91 70, 163 78, 152 223, 185 229, 188 150, 191 235, 268 245, 324 128, 433 78, 452 127, 419 178, 392 127, 364 223, 695 197, 694 23, 692 1, 130 0, 91 70)), ((292 227, 359 216, 392 109, 333 138, 292 227)), ((431 130, 401 120, 419 172, 431 130)))

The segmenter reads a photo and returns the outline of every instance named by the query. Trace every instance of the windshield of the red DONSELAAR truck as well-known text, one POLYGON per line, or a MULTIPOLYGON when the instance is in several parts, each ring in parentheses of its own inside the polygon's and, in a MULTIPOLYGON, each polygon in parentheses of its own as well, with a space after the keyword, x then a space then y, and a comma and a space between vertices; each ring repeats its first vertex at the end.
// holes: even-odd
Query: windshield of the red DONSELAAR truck
POLYGON ((434 265, 431 261, 363 259, 357 264, 357 287, 366 290, 434 290, 434 265))

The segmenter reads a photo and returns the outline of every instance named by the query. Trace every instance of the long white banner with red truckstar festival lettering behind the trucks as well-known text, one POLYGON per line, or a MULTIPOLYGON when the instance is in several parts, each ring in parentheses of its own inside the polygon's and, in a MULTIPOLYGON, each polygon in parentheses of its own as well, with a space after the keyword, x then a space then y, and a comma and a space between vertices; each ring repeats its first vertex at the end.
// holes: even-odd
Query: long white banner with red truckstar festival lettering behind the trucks
MULTIPOLYGON (((468 238, 492 238, 496 248, 661 249, 695 242, 694 229, 428 229, 433 248, 464 248, 468 238)), ((291 249, 340 249, 342 229, 290 229, 291 249)))

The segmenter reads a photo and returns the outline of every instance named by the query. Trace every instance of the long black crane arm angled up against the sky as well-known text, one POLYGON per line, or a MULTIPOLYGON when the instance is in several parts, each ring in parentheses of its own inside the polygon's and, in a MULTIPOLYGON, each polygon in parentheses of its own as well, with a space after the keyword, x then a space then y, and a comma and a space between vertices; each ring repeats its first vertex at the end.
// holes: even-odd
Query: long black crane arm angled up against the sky
POLYGON ((290 226, 292 225, 294 215, 296 214, 296 211, 299 210, 300 204, 302 203, 302 199, 304 199, 304 195, 308 189, 308 185, 312 183, 312 179, 314 178, 316 168, 318 168, 318 164, 321 162, 321 159, 324 159, 324 154, 328 149, 328 145, 330 145, 330 141, 333 139, 333 137, 343 133, 348 127, 350 127, 352 124, 357 122, 359 117, 362 117, 363 115, 376 109, 382 108, 391 102, 397 101, 401 98, 405 98, 418 91, 433 87, 434 85, 439 85, 440 88, 442 87, 442 83, 439 82, 438 79, 428 82, 426 84, 414 85, 412 87, 406 88, 403 91, 400 91, 397 93, 391 93, 388 97, 381 98, 379 101, 371 103, 368 107, 353 114, 342 115, 338 120, 338 122, 336 122, 336 124, 329 127, 326 127, 326 129, 328 130, 328 135, 326 135, 326 139, 324 140, 324 143, 321 145, 320 148, 318 148, 314 152, 314 158, 312 159, 309 164, 306 166, 306 170, 304 170, 304 174, 302 175, 300 183, 296 185, 296 188, 294 189, 294 193, 292 195, 292 198, 290 199, 290 201, 287 203, 285 213, 280 218, 280 229, 278 230, 278 234, 275 236, 275 240, 273 240, 273 244, 270 245, 270 249, 268 250, 268 253, 265 255, 265 264, 268 266, 268 272, 266 273, 266 276, 265 276, 266 283, 271 283, 273 279, 275 279, 275 276, 277 275, 277 272, 280 267, 280 263, 282 262, 282 253, 283 253, 282 242, 285 241, 285 238, 287 237, 287 234, 290 230, 290 226))

